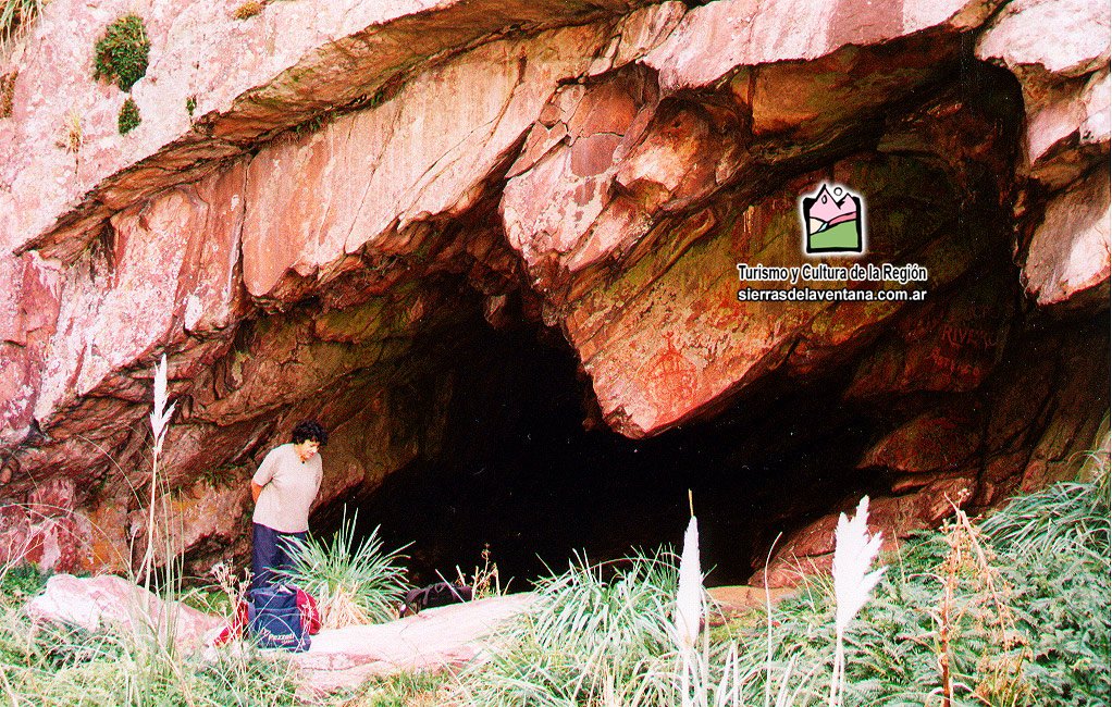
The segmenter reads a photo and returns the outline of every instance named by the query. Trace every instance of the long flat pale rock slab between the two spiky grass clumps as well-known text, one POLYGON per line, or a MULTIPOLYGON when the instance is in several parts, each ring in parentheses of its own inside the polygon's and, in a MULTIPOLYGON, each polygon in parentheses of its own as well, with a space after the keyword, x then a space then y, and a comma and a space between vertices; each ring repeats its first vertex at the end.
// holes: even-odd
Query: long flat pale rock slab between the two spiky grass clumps
POLYGON ((459 666, 480 656, 484 636, 534 601, 534 594, 513 594, 425 609, 389 624, 322 630, 292 661, 304 683, 322 693, 371 677, 459 666))

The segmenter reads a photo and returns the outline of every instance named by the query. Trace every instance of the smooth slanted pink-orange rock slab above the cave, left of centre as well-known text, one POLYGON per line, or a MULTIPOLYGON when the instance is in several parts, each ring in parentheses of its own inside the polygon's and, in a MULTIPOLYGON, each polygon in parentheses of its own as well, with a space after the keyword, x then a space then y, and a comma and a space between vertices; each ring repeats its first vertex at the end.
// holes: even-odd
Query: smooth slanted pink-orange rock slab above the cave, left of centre
POLYGON ((249 208, 259 215, 244 230, 248 291, 268 296, 289 270, 326 277, 364 248, 405 252, 414 243, 391 233, 466 211, 556 82, 587 70, 584 49, 600 47, 604 29, 487 44, 379 108, 262 150, 247 175, 249 208), (290 200, 302 206, 285 208, 290 200))

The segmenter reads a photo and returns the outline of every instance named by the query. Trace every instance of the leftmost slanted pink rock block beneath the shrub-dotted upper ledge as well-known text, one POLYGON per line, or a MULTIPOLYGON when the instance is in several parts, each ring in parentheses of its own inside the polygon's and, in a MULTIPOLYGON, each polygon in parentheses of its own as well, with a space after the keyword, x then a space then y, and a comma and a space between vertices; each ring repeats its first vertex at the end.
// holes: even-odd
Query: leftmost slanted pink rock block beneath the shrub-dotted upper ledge
POLYGON ((242 169, 170 190, 112 218, 103 246, 67 271, 36 416, 96 390, 158 346, 232 321, 242 169))

